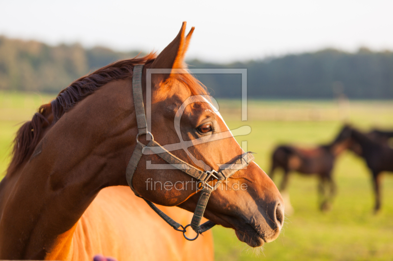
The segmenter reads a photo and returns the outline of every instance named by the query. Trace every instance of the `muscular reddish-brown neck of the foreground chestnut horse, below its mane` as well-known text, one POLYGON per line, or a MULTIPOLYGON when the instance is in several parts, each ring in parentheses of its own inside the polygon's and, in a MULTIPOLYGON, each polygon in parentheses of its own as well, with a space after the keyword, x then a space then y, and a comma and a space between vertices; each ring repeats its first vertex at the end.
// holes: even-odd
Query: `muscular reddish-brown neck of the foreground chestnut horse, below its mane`
POLYGON ((111 82, 79 102, 8 182, 0 259, 66 259, 76 223, 97 193, 127 185, 137 134, 131 87, 131 80, 111 82))

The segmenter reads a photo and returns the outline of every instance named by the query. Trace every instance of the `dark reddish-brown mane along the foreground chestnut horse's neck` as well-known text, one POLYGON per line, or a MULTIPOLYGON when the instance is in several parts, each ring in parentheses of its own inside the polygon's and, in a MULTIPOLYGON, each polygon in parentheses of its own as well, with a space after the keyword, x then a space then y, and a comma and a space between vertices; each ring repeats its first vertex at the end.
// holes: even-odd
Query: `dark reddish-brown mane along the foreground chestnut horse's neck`
POLYGON ((45 128, 56 123, 65 112, 103 85, 113 80, 132 77, 134 65, 149 64, 156 56, 156 53, 151 52, 143 57, 137 56, 133 59, 114 62, 79 78, 63 89, 50 103, 41 105, 32 119, 24 123, 17 131, 12 144, 11 163, 6 174, 15 172, 21 166, 40 142, 45 128), (51 118, 52 122, 48 118, 51 118))

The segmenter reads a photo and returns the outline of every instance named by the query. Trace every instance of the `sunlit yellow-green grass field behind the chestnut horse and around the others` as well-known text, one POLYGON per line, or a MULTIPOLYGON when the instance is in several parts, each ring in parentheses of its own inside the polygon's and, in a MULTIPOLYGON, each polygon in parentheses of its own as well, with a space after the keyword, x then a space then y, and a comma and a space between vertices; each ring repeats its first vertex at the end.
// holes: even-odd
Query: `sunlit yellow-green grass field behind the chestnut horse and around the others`
MULTIPOLYGON (((18 123, 31 118, 48 95, 0 92, 0 173, 9 158, 9 144, 18 123)), ((329 142, 347 119, 355 126, 393 129, 392 101, 352 101, 339 109, 333 101, 249 101, 249 120, 241 121, 240 102, 221 100, 220 112, 233 129, 250 125, 248 141, 255 161, 265 171, 270 167, 270 152, 278 143, 312 146, 329 142)), ((393 159, 392 159, 393 160, 393 159)), ((293 175, 289 193, 294 213, 285 219, 284 230, 274 242, 265 244, 256 255, 241 243, 234 232, 213 228, 217 260, 392 260, 393 259, 393 175, 384 175, 382 211, 371 212, 373 195, 370 174, 362 160, 345 152, 334 173, 337 197, 328 213, 317 208, 317 180, 293 175)), ((281 175, 276 175, 275 182, 281 175)))

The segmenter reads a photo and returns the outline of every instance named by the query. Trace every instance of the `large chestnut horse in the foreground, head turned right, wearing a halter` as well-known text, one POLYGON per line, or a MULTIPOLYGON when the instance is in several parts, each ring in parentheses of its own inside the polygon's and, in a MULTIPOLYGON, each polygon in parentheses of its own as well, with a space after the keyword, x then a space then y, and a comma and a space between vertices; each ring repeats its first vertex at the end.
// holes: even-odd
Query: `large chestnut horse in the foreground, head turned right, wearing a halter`
MULTIPOLYGON (((183 60, 194 28, 185 36, 185 25, 157 57, 115 62, 80 78, 19 129, 11 164, 0 183, 0 259, 87 261, 95 254, 119 261, 213 259, 209 233, 186 241, 125 187, 138 134, 134 66, 144 64, 141 86, 147 104, 146 70, 187 72, 183 60)), ((155 141, 179 142, 173 120, 192 95, 207 92, 191 74, 153 74, 149 131, 155 141)), ((184 141, 229 131, 207 102, 189 104, 180 127, 184 141)), ((146 144, 146 139, 143 135, 140 142, 146 144)), ((188 152, 214 170, 244 153, 233 136, 199 143, 188 152)), ((184 150, 172 153, 201 169, 184 150)), ((149 169, 148 161, 167 164, 158 155, 142 155, 133 188, 145 199, 168 206, 160 209, 186 225, 192 214, 170 207, 195 211, 200 193, 192 177, 179 169, 149 169), (149 190, 148 180, 186 186, 149 190)), ((239 240, 258 247, 280 234, 282 198, 266 173, 251 162, 211 193, 204 217, 234 229, 239 240), (239 183, 246 189, 227 189, 239 183)))

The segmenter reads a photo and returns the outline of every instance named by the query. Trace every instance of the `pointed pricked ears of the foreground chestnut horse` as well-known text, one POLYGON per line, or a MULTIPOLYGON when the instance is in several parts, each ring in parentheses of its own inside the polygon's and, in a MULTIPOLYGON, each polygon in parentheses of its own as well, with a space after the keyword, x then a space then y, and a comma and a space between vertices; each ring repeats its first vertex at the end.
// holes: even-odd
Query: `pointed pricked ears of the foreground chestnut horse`
MULTIPOLYGON (((183 22, 180 32, 173 39, 173 41, 165 47, 165 49, 157 56, 154 62, 149 67, 150 69, 182 69, 187 66, 184 64, 184 56, 190 43, 191 36, 194 32, 194 27, 191 28, 188 35, 185 37, 186 22, 183 22)), ((158 79, 164 81, 169 77, 168 74, 156 74, 158 79)))

